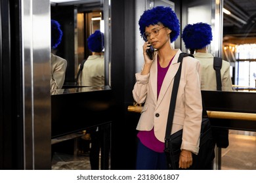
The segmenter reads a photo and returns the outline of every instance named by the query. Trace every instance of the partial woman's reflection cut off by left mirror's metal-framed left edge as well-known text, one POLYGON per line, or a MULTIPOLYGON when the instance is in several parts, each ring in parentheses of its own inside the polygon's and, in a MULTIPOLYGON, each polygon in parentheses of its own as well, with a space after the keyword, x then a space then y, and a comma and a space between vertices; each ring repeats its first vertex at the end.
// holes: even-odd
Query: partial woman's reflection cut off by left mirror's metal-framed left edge
POLYGON ((51 93, 56 93, 57 89, 61 89, 65 80, 67 61, 53 53, 61 40, 60 24, 56 20, 51 20, 51 93))

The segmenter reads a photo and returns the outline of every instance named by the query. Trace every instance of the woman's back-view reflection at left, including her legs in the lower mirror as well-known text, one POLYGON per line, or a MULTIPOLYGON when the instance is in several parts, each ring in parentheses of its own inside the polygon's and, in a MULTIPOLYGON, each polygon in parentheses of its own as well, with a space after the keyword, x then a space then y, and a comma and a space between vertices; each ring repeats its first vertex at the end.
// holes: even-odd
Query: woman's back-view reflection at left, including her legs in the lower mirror
MULTIPOLYGON (((80 86, 104 86, 104 34, 100 30, 96 30, 95 33, 90 35, 87 39, 88 48, 93 52, 93 55, 89 56, 83 65, 83 70, 79 76, 78 83, 80 86)), ((83 88, 81 88, 83 89, 83 88)), ((91 150, 90 150, 90 163, 92 170, 99 169, 99 154, 100 149, 102 166, 105 165, 104 161, 108 160, 108 150, 104 150, 103 142, 104 129, 101 126, 93 127, 88 130, 91 134, 91 150)), ((108 145, 108 143, 106 144, 108 145)))

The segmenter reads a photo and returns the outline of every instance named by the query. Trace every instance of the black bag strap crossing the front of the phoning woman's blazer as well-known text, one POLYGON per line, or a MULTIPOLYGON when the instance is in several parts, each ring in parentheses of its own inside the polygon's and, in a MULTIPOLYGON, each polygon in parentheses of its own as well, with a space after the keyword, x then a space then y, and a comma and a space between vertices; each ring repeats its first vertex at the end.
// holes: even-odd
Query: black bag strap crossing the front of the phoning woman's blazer
POLYGON ((173 124, 173 115, 175 111, 177 93, 179 89, 179 82, 181 79, 182 60, 186 56, 191 56, 194 58, 192 54, 181 53, 179 55, 178 63, 180 62, 180 66, 175 75, 174 82, 173 82, 173 91, 171 92, 171 102, 170 102, 169 114, 167 118, 167 125, 166 125, 166 131, 165 131, 165 147, 167 147, 167 142, 170 141, 170 131, 173 124))

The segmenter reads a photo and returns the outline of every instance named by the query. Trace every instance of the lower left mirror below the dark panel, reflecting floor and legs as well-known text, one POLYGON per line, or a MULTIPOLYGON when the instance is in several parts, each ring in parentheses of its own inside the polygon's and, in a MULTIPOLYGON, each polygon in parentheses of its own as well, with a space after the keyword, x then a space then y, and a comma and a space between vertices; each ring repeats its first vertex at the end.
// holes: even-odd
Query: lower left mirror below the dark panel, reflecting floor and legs
POLYGON ((111 169, 111 123, 52 139, 53 170, 111 169))

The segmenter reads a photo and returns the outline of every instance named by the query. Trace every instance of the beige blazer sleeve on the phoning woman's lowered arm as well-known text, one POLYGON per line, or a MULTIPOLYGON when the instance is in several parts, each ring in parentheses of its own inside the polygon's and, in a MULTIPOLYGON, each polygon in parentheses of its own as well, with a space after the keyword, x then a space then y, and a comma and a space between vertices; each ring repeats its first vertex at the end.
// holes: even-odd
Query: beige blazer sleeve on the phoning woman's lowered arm
POLYGON ((181 150, 189 150, 198 154, 200 143, 200 131, 202 124, 202 95, 200 88, 200 62, 197 59, 190 59, 186 64, 184 88, 185 119, 181 150))

